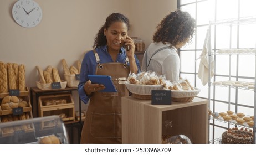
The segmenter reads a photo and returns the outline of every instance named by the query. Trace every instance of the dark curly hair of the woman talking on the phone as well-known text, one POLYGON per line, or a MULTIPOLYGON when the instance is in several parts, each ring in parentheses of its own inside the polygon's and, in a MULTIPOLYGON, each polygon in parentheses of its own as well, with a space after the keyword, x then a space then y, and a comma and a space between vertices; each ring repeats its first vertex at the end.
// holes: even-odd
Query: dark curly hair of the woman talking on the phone
POLYGON ((103 46, 107 43, 106 37, 104 36, 104 29, 108 29, 111 24, 115 22, 124 22, 127 25, 128 30, 130 29, 129 19, 121 13, 112 13, 106 18, 105 24, 100 28, 96 37, 94 38, 93 48, 103 46))

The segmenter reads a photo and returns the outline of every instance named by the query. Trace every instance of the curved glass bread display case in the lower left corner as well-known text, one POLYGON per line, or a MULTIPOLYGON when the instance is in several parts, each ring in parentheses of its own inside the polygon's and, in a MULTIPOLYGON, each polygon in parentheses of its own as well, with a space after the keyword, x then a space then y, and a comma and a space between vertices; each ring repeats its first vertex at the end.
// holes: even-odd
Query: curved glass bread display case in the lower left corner
POLYGON ((0 133, 1 144, 39 144, 39 143, 69 143, 68 133, 65 125, 59 116, 47 116, 32 118, 29 120, 13 121, 0 123, 0 131, 4 128, 18 128, 20 126, 30 125, 29 131, 14 130, 8 135, 0 133), (44 122, 54 122, 52 127, 42 127, 44 122), (54 137, 52 141, 43 141, 45 137, 54 137))

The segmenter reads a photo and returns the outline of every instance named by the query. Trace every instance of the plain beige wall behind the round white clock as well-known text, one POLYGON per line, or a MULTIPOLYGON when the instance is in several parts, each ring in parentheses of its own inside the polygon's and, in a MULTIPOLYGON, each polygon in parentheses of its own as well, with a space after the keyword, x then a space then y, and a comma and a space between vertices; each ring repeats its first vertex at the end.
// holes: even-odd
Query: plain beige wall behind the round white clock
POLYGON ((177 8, 176 0, 34 0, 42 8, 42 21, 23 28, 12 18, 16 1, 0 0, 0 61, 24 64, 28 87, 39 80, 37 65, 57 67, 63 79, 61 60, 65 58, 69 66, 82 60, 110 13, 129 17, 129 35, 144 39, 147 46, 156 24, 177 8))

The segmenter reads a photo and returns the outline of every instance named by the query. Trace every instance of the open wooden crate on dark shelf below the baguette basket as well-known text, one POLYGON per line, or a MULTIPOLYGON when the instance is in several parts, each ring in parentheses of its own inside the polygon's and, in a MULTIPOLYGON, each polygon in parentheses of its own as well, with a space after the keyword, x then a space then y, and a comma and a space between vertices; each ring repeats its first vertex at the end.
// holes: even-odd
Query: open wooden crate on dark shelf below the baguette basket
POLYGON ((71 94, 39 96, 39 117, 65 114, 63 121, 75 121, 75 104, 71 94), (47 100, 66 100, 66 104, 45 105, 47 100))

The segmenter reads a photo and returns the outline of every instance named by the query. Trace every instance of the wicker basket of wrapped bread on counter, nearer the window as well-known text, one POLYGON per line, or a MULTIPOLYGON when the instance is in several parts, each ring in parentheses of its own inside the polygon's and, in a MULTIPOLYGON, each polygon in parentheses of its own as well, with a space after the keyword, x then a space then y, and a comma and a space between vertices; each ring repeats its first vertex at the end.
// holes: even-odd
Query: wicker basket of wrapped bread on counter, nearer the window
POLYGON ((171 90, 171 97, 174 102, 190 102, 201 91, 197 87, 191 86, 187 79, 180 79, 175 82, 166 80, 164 90, 171 90))

